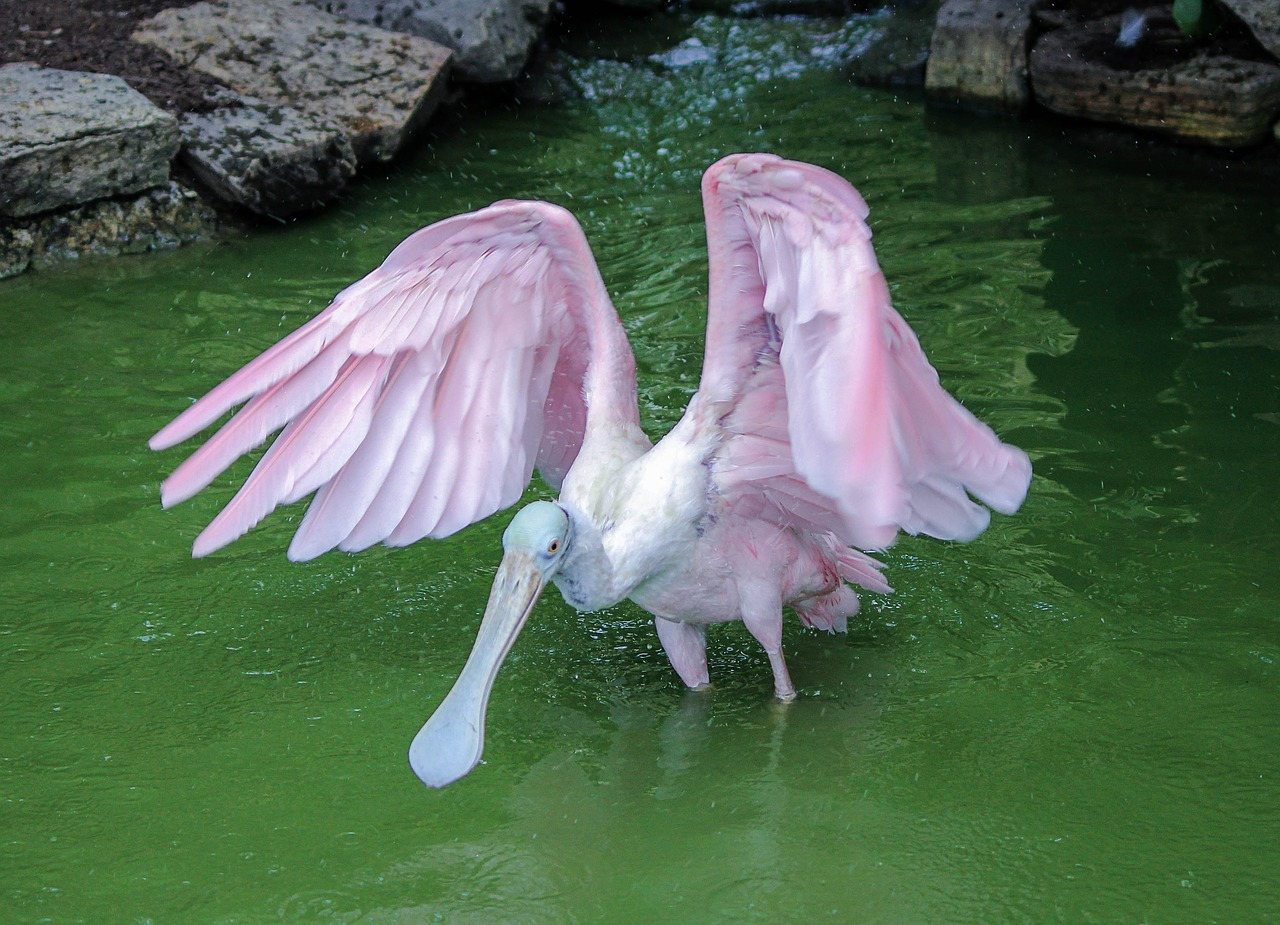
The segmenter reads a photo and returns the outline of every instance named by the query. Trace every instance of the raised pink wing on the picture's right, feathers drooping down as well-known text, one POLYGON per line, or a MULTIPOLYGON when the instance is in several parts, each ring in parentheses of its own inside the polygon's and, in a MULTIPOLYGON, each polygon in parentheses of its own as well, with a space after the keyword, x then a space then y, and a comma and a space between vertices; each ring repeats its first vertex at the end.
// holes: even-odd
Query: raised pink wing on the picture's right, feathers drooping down
POLYGON ((938 384, 890 304, 867 205, 820 168, 732 155, 703 178, 710 311, 701 400, 731 438, 724 503, 864 549, 969 540, 1021 504, 1027 454, 938 384))

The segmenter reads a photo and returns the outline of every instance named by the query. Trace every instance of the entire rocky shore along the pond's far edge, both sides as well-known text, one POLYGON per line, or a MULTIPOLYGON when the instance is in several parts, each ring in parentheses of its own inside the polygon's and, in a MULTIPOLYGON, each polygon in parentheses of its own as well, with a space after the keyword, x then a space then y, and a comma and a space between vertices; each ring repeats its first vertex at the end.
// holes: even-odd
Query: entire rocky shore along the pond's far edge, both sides
MULTIPOLYGON (((1224 23, 1192 41, 1169 3, 902 0, 850 68, 943 105, 1042 107, 1224 148, 1280 141, 1280 0, 1217 1, 1224 23)), ((447 95, 513 87, 557 14, 577 13, 553 0, 0 0, 0 279, 174 247, 225 216, 323 207, 415 143, 447 95)))

